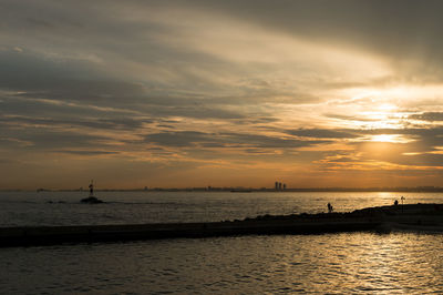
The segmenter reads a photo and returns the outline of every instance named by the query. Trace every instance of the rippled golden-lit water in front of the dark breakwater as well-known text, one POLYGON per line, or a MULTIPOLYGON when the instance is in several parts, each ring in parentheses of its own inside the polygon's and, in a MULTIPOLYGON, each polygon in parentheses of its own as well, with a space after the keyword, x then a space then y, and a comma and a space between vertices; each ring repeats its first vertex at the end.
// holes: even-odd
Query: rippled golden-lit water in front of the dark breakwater
POLYGON ((324 234, 0 250, 3 294, 443 292, 443 236, 324 234))

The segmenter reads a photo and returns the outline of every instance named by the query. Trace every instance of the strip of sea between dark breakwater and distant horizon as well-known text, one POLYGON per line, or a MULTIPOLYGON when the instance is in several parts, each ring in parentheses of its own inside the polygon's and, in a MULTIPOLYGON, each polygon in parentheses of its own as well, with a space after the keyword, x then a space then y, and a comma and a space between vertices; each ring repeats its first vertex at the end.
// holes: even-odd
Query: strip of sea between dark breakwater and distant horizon
POLYGON ((208 222, 265 214, 338 212, 393 204, 443 202, 443 193, 205 193, 99 192, 105 204, 81 204, 87 193, 0 193, 0 226, 208 222), (49 203, 52 202, 52 203, 49 203))

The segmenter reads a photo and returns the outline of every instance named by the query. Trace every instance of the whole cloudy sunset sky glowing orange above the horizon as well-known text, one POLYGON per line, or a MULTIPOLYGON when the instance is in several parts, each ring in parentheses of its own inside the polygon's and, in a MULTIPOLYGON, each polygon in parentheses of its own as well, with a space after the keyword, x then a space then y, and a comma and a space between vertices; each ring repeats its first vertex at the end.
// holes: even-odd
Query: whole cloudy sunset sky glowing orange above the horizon
POLYGON ((442 185, 441 11, 0 0, 0 189, 442 185))

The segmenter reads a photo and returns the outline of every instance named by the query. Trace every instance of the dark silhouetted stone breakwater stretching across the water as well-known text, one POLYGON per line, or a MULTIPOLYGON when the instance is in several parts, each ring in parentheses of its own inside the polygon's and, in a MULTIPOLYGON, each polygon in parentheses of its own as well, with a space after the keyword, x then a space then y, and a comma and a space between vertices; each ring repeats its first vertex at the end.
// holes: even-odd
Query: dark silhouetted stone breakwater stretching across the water
POLYGON ((391 231, 443 232, 443 204, 368 207, 347 213, 265 215, 243 221, 0 227, 0 247, 241 235, 391 231))

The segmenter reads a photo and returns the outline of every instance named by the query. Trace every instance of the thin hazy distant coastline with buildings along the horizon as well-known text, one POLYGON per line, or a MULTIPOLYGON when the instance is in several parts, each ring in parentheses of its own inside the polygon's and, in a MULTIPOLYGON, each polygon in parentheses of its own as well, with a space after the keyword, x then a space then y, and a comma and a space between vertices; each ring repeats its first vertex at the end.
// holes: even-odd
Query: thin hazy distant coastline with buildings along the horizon
MULTIPOLYGON (((37 190, 20 190, 20 189, 10 189, 10 190, 0 190, 0 192, 87 192, 87 190, 80 189, 37 189, 37 190)), ((337 193, 346 193, 346 192, 379 192, 379 193, 442 193, 443 187, 441 186, 416 186, 416 187, 295 187, 295 189, 286 189, 286 190, 275 190, 268 187, 238 187, 238 186, 228 186, 228 187, 150 187, 150 189, 101 189, 95 190, 95 192, 206 192, 206 193, 217 193, 217 192, 231 192, 231 193, 241 193, 241 192, 337 192, 337 193)))

